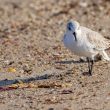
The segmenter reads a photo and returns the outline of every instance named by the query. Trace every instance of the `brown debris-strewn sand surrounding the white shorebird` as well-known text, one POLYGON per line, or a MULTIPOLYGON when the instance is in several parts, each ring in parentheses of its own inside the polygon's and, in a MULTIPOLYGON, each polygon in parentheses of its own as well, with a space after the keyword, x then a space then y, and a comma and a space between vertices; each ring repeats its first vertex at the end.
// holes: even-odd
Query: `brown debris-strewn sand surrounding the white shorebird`
POLYGON ((110 39, 109 0, 0 0, 0 110, 110 110, 110 63, 82 74, 62 43, 69 19, 110 39))

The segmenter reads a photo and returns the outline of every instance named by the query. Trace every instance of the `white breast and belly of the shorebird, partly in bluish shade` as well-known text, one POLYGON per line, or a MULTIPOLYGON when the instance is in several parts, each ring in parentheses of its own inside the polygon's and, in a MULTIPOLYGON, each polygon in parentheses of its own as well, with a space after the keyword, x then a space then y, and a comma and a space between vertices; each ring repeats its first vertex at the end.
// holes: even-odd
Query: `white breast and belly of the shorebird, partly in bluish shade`
POLYGON ((85 57, 92 56, 92 54, 94 53, 93 49, 88 46, 89 43, 85 41, 86 39, 84 39, 84 37, 81 37, 81 35, 77 35, 76 37, 77 41, 75 41, 75 38, 72 34, 65 34, 63 39, 65 47, 67 47, 76 55, 85 57))

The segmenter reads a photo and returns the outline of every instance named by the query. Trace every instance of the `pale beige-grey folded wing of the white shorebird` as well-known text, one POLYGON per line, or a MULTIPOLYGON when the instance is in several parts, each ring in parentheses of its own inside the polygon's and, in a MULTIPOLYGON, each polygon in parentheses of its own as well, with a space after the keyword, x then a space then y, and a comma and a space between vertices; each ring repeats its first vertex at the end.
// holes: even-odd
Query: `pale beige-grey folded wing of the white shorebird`
POLYGON ((97 50, 104 50, 110 47, 108 39, 104 38, 98 32, 92 31, 88 28, 82 27, 82 32, 86 34, 87 41, 94 45, 97 50))

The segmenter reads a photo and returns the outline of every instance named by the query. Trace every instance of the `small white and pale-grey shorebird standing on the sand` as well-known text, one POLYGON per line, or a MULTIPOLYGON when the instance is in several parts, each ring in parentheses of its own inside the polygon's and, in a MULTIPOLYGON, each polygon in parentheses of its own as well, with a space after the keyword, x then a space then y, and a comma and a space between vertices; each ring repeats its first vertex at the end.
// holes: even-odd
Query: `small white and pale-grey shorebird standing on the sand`
POLYGON ((104 60, 110 61, 110 58, 105 52, 110 47, 110 42, 100 33, 80 26, 77 21, 70 20, 67 23, 63 42, 65 47, 74 54, 87 58, 89 75, 92 75, 96 55, 99 54, 104 60))

